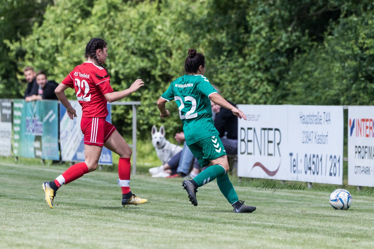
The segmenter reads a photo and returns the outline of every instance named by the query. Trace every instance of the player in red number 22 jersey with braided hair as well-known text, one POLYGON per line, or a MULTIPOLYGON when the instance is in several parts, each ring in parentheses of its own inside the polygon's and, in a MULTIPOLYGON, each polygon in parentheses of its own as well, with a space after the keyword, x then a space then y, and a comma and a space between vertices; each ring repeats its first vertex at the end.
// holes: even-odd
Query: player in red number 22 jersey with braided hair
POLYGON ((55 90, 70 119, 77 115, 64 93, 67 88, 74 88, 82 106, 80 128, 84 134, 85 162, 74 164, 54 181, 43 183, 46 202, 50 208, 53 208, 53 198, 59 187, 97 168, 102 146, 120 156, 117 183, 122 189, 122 205, 139 205, 147 202, 147 199, 141 199, 130 191, 132 150, 118 133, 116 127, 105 121, 105 117, 108 115, 107 102, 111 103, 129 96, 142 87, 144 82, 138 79, 126 90, 113 91, 108 71, 102 65, 108 56, 107 50, 107 43, 104 40, 92 38, 86 46, 87 61, 76 66, 55 90))

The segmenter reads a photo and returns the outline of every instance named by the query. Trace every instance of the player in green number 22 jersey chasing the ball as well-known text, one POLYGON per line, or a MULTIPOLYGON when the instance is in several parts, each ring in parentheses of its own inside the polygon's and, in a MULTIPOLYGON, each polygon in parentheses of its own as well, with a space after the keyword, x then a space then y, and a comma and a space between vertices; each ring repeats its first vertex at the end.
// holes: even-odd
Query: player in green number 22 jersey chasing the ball
POLYGON ((233 206, 234 212, 251 213, 256 207, 244 205, 243 201, 239 201, 227 175, 229 163, 219 133, 214 127, 211 101, 231 110, 238 118, 246 120, 246 116, 221 97, 204 76, 205 56, 196 53, 195 49, 189 49, 188 55, 184 64, 187 74, 172 81, 157 101, 161 118, 167 118, 169 111, 166 110, 165 104, 175 100, 187 145, 200 166, 208 166, 192 180, 183 181, 182 186, 186 189, 191 203, 197 206, 197 188, 217 178, 218 187, 233 206))

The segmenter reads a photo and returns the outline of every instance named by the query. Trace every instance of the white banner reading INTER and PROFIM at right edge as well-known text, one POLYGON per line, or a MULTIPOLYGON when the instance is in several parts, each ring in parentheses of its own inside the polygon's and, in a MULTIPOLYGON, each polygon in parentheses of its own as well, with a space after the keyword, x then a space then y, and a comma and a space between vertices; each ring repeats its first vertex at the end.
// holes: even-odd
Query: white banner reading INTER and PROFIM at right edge
POLYGON ((373 106, 348 108, 348 184, 374 187, 373 106))

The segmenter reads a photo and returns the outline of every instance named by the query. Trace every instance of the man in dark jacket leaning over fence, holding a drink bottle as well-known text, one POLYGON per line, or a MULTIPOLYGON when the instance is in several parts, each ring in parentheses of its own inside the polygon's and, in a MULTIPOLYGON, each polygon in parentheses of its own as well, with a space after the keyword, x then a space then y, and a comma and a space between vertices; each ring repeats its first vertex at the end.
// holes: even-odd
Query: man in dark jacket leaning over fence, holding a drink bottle
POLYGON ((55 94, 58 84, 55 81, 47 81, 47 75, 44 71, 38 71, 35 78, 39 86, 38 94, 26 97, 27 102, 42 99, 58 99, 55 94))

